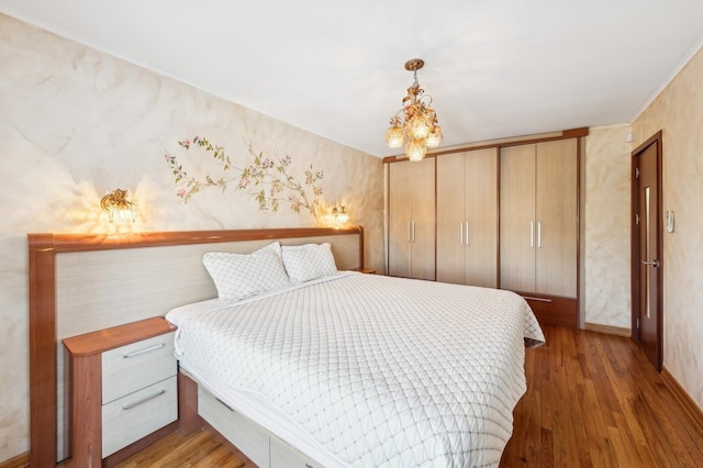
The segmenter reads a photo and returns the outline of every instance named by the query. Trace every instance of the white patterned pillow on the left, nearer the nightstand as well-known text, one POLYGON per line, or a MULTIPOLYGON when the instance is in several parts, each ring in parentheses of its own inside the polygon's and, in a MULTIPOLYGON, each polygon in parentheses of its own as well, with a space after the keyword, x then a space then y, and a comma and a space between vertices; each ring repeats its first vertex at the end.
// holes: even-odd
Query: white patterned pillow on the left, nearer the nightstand
MULTIPOLYGON (((268 246, 267 246, 268 247, 268 246)), ((274 248, 253 254, 209 252, 202 257, 222 300, 239 300, 290 283, 274 248)))

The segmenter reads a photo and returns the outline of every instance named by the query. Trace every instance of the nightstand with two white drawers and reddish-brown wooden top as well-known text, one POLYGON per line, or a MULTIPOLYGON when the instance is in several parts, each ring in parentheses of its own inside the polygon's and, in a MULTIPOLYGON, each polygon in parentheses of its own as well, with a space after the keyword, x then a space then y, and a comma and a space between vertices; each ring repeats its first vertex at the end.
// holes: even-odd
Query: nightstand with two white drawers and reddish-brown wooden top
POLYGON ((175 331, 153 317, 64 339, 70 354, 74 466, 99 467, 178 420, 175 331))

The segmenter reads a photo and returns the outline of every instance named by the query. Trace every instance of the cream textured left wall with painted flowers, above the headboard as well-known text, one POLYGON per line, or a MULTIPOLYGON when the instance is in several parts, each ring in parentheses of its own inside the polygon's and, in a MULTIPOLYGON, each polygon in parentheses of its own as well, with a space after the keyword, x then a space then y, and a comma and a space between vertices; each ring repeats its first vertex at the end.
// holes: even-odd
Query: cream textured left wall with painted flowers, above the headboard
POLYGON ((183 204, 165 152, 191 175, 217 167, 179 140, 204 135, 239 168, 252 160, 248 143, 272 159, 290 155, 301 182, 311 164, 323 170, 324 200, 349 207, 352 222, 365 227, 367 266, 382 271, 380 159, 1 14, 0 63, 0 461, 29 448, 26 233, 104 232, 97 203, 118 187, 140 202, 135 231, 316 224, 287 205, 259 211, 236 182, 183 204))

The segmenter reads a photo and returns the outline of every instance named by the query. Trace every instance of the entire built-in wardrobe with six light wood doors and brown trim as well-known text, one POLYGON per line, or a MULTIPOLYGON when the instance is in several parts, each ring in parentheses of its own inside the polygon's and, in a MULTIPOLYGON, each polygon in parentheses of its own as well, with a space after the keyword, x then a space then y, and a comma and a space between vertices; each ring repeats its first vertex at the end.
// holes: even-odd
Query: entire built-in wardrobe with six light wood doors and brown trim
POLYGON ((509 289, 542 323, 577 327, 585 135, 387 158, 388 274, 509 289))

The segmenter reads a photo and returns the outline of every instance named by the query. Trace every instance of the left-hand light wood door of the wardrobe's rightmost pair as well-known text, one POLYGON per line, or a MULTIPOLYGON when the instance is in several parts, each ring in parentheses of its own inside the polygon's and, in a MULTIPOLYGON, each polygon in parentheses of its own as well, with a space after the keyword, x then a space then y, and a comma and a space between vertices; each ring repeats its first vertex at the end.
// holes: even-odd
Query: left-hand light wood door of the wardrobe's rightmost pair
POLYGON ((536 146, 501 148, 500 286, 535 290, 535 152, 536 146))

